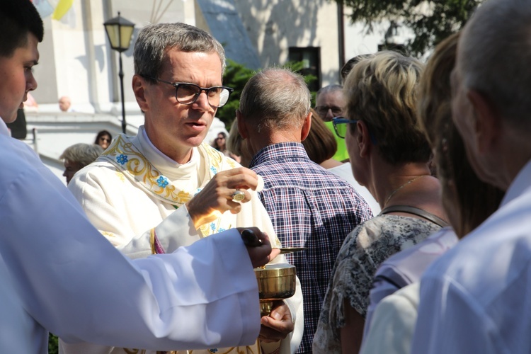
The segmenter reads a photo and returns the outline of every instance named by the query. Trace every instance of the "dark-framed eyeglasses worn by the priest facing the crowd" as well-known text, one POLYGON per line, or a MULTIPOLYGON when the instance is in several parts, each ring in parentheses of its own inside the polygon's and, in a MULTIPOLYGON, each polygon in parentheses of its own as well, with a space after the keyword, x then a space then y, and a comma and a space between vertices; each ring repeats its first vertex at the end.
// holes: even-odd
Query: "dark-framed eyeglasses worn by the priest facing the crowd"
POLYGON ((144 77, 175 87, 175 98, 178 103, 182 103, 183 105, 191 105, 195 101, 198 101, 201 92, 205 91, 207 93, 208 104, 216 108, 223 107, 229 101, 229 96, 232 91, 234 91, 234 89, 227 86, 201 87, 196 84, 190 84, 189 82, 170 82, 152 76, 144 77))

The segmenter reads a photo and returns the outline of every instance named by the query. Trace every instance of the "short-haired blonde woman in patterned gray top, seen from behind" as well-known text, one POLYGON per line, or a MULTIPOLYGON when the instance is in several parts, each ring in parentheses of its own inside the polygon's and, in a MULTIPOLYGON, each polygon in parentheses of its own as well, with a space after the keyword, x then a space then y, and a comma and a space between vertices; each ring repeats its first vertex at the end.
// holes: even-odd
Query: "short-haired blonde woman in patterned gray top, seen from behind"
POLYGON ((418 60, 379 52, 346 78, 345 115, 334 118, 346 139, 353 174, 382 212, 351 232, 326 292, 314 353, 358 353, 369 292, 378 266, 445 226, 440 183, 430 175, 431 151, 416 116, 418 60))

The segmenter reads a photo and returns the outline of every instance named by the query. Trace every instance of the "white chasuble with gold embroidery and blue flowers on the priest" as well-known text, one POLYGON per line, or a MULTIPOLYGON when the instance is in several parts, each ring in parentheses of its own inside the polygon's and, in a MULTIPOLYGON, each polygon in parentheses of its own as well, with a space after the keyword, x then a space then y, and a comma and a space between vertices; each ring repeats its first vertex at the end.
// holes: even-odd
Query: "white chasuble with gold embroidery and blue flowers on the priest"
MULTIPOLYGON (((258 195, 243 203, 241 212, 219 213, 214 222, 195 229, 185 202, 205 187, 219 171, 240 165, 208 144, 193 149, 186 164, 178 164, 159 152, 140 127, 135 137, 119 135, 98 159, 77 172, 68 188, 84 208, 94 226, 111 244, 130 258, 166 253, 188 246, 198 239, 234 227, 258 227, 266 232, 273 247, 280 247, 258 195), (154 238, 156 242, 154 244, 154 238)), ((273 263, 286 263, 278 256, 273 263)), ((227 280, 230 281, 230 280, 227 280)), ((302 337, 302 293, 286 300, 295 320, 295 331, 280 343, 282 354, 295 353, 302 337)), ((259 311, 259 309, 256 309, 259 311)), ((189 321, 189 319, 183 319, 189 321)), ((227 323, 227 326, 230 326, 227 323)), ((94 346, 89 343, 60 343, 61 353, 156 353, 139 350, 94 346)), ((178 351, 176 353, 186 353, 178 351)), ((188 353, 262 353, 250 347, 189 350, 188 353)))

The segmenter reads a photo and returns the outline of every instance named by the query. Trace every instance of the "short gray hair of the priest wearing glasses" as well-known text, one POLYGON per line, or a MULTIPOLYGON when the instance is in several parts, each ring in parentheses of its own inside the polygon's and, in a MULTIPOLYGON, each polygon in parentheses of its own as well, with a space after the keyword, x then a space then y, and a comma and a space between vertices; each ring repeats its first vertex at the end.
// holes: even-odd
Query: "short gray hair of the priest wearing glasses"
POLYGON ((183 52, 215 52, 222 64, 222 73, 225 71, 225 51, 212 35, 186 23, 159 23, 147 25, 139 32, 133 53, 135 74, 146 79, 159 77, 167 50, 171 48, 183 52))

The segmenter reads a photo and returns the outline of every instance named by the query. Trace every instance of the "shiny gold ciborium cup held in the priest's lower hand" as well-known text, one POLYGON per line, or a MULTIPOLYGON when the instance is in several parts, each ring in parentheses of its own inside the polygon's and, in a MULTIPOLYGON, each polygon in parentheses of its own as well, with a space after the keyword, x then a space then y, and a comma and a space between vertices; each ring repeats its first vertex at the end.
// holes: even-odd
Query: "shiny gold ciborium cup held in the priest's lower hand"
POLYGON ((271 313, 275 300, 295 295, 295 265, 268 264, 263 268, 255 268, 254 273, 258 281, 261 316, 268 316, 271 313))

